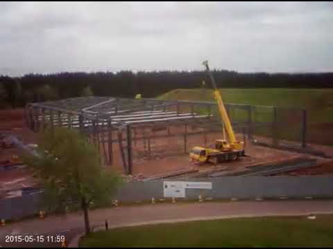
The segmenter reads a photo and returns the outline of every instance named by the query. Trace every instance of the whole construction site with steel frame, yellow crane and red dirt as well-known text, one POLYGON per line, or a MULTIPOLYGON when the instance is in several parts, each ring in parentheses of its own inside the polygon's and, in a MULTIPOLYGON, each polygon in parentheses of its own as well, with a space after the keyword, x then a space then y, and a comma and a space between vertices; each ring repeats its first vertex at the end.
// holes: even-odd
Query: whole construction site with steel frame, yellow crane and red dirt
POLYGON ((141 95, 27 104, 19 128, 10 119, 1 127, 1 196, 38 187, 19 154, 33 151, 37 133, 54 127, 84 133, 99 150, 101 167, 128 181, 332 173, 333 150, 307 143, 307 110, 223 103, 205 66, 217 104, 141 95))

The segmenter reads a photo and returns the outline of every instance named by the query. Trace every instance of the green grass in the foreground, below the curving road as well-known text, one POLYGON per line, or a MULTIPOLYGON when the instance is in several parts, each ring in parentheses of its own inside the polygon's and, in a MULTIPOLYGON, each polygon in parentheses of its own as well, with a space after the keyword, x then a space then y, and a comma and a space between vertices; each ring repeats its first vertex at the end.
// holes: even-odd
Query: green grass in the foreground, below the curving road
POLYGON ((143 225, 95 232, 89 247, 332 247, 333 216, 270 217, 143 225))

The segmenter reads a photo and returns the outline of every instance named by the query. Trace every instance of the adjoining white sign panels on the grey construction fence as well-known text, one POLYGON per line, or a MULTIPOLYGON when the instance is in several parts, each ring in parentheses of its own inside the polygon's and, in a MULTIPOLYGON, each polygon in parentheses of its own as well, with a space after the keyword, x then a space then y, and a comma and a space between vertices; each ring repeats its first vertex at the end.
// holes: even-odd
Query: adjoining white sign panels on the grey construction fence
POLYGON ((185 198, 185 188, 212 190, 210 182, 164 181, 164 197, 185 198))

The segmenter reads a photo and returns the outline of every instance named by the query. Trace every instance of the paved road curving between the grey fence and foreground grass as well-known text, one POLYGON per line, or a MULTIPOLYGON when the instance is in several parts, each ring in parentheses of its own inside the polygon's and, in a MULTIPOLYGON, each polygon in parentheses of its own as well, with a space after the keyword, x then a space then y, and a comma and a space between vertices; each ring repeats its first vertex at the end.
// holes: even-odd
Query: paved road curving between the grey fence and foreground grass
MULTIPOLYGON (((333 214, 333 201, 236 201, 205 203, 159 203, 108 208, 89 212, 91 225, 102 225, 108 219, 109 225, 128 225, 146 221, 169 219, 194 219, 212 216, 270 216, 333 214)), ((69 242, 76 234, 83 232, 83 215, 46 216, 45 219, 31 219, 0 227, 0 245, 8 246, 60 246, 60 243, 6 243, 8 234, 64 234, 69 242)))

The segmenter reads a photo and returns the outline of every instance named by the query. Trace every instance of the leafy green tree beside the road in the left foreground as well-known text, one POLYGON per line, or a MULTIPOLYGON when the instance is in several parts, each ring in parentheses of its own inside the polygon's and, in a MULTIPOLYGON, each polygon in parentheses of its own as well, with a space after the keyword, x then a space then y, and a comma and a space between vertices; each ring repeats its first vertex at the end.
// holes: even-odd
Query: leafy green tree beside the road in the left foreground
POLYGON ((121 177, 101 168, 99 151, 74 129, 42 131, 37 154, 24 160, 44 187, 44 207, 51 212, 81 208, 88 234, 89 205, 110 203, 121 177))

